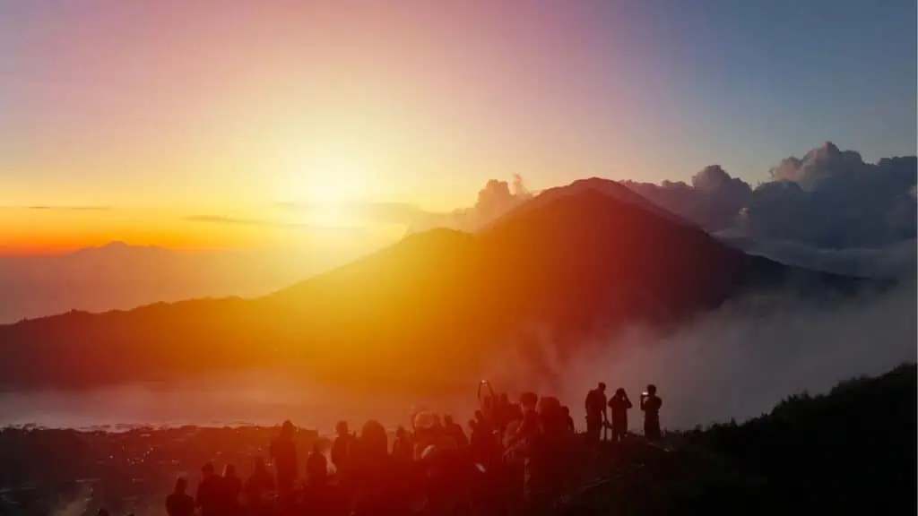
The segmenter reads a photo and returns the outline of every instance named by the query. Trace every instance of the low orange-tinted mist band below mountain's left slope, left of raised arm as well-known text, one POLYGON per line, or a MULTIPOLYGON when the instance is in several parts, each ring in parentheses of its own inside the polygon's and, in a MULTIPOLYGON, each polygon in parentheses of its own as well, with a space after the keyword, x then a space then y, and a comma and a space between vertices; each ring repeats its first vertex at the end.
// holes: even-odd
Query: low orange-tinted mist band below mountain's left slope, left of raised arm
POLYGON ((475 409, 475 389, 472 381, 468 396, 396 396, 319 385, 295 372, 227 372, 79 392, 0 393, 0 426, 117 432, 138 426, 274 426, 289 419, 302 428, 331 434, 341 420, 351 421, 353 428, 367 419, 394 428, 408 424, 411 414, 421 409, 465 416, 475 409))

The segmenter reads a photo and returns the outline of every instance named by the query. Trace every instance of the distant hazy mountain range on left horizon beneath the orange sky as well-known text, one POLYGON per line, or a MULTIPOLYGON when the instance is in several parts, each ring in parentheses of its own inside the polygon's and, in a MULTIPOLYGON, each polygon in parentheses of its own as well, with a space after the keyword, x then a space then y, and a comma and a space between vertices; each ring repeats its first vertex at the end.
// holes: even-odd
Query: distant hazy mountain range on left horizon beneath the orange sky
POLYGON ((64 254, 0 256, 0 323, 73 308, 262 296, 331 265, 298 252, 180 252, 119 241, 64 254))

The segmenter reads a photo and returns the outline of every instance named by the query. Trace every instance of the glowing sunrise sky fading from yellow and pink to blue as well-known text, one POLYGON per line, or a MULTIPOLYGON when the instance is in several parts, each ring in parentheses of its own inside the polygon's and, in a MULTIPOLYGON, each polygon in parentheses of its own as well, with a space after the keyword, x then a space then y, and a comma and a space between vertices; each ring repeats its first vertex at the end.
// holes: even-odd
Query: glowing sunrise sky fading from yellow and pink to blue
POLYGON ((915 24, 911 0, 0 0, 0 248, 385 241, 336 207, 911 155, 915 24))

